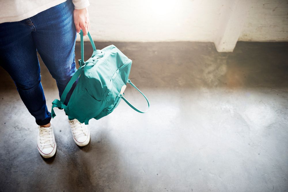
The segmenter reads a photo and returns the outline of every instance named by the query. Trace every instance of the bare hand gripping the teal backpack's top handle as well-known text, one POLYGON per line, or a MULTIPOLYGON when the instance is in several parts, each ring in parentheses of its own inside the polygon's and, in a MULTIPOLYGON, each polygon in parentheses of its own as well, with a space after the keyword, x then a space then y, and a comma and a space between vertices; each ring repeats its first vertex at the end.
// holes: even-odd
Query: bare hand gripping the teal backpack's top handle
POLYGON ((82 29, 83 35, 84 36, 87 35, 90 28, 89 14, 87 7, 84 9, 74 9, 73 18, 77 33, 79 33, 80 29, 82 29))

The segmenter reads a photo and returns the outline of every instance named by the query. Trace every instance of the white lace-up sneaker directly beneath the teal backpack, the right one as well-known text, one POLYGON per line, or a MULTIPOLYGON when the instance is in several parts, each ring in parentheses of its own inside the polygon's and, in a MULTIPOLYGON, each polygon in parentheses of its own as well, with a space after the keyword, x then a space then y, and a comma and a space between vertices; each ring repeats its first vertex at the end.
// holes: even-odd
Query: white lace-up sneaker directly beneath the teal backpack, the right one
POLYGON ((81 147, 88 145, 90 141, 90 131, 84 123, 77 119, 69 120, 71 132, 75 143, 81 147))

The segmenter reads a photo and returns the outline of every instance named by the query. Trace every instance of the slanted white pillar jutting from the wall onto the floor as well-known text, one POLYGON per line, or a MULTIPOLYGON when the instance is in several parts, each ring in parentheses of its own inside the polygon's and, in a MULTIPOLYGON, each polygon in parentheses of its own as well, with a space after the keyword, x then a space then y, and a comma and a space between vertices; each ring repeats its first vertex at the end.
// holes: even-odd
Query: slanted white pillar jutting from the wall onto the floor
POLYGON ((218 52, 233 52, 245 23, 251 0, 231 0, 222 5, 214 44, 218 52))

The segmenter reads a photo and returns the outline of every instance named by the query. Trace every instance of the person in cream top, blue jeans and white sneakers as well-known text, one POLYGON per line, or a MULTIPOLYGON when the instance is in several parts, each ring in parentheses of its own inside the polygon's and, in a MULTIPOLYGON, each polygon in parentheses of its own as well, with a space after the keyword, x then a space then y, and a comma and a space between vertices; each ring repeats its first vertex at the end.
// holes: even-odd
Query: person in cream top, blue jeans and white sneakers
MULTIPOLYGON (((76 71, 76 32, 82 29, 87 35, 89 31, 89 2, 0 0, 0 5, 1 66, 10 74, 22 101, 35 117, 39 153, 49 158, 56 152, 56 142, 50 123, 51 113, 47 109, 40 82, 37 52, 56 80, 61 96, 76 71)), ((67 100, 72 92, 73 89, 67 95, 67 100)), ((69 124, 76 144, 87 145, 90 141, 88 127, 77 119, 69 119, 69 124)))

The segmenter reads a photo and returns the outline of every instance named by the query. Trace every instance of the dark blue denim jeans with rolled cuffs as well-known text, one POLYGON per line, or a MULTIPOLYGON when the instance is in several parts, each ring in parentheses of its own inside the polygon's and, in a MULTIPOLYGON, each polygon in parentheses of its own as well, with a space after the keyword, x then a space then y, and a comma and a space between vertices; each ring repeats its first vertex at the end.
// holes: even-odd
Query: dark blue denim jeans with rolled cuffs
MULTIPOLYGON (((38 125, 46 125, 51 113, 41 85, 37 52, 56 80, 61 97, 76 71, 76 30, 71 0, 31 18, 0 24, 1 66, 10 74, 19 95, 38 125)), ((67 95, 69 100, 73 89, 67 95)))

